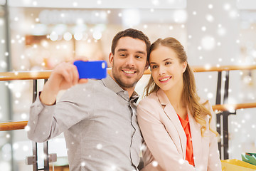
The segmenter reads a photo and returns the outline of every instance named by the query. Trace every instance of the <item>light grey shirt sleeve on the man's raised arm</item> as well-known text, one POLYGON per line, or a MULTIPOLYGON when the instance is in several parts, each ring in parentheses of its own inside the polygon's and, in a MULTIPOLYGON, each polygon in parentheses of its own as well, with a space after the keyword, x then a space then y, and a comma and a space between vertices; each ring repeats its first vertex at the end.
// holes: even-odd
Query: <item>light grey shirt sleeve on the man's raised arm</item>
POLYGON ((92 91, 81 93, 79 87, 67 90, 55 105, 44 105, 38 97, 31 105, 28 119, 28 139, 45 142, 81 120, 92 115, 92 91))

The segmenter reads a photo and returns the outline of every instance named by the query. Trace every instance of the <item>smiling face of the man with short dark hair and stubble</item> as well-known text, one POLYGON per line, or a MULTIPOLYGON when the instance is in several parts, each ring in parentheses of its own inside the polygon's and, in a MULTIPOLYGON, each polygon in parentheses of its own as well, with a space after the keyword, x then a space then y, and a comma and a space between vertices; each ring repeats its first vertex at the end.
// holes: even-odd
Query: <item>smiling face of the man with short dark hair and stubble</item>
POLYGON ((111 76, 127 90, 134 88, 146 68, 146 43, 138 38, 122 37, 117 42, 114 54, 110 53, 111 76))

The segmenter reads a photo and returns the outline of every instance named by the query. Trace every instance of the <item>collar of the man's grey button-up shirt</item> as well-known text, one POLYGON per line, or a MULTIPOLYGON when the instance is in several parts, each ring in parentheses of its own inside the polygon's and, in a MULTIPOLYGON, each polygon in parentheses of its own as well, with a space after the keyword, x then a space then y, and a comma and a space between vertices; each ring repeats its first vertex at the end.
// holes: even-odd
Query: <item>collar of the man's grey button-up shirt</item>
MULTIPOLYGON (((122 89, 117 84, 117 82, 115 82, 113 80, 113 78, 109 74, 107 74, 107 78, 104 78, 101 81, 104 84, 104 86, 106 86, 107 88, 110 88, 110 90, 114 91, 114 93, 119 94, 119 93, 127 92, 124 89, 122 89)), ((129 98, 129 95, 128 95, 128 98, 129 98)), ((130 100, 134 100, 134 102, 136 103, 138 99, 139 99, 139 95, 134 91, 134 93, 132 93, 132 96, 131 96, 130 100)))

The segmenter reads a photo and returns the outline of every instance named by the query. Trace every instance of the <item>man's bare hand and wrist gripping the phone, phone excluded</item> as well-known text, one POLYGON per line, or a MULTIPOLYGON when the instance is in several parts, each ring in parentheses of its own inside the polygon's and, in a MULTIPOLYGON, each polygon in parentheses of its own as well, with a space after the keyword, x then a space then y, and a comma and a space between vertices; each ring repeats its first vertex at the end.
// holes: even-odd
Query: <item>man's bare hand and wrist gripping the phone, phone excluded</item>
MULTIPOLYGON (((87 61, 87 58, 76 58, 76 60, 87 61)), ((87 83, 87 79, 79 79, 78 69, 71 63, 60 63, 50 75, 43 86, 40 100, 46 105, 53 105, 60 90, 66 90, 78 83, 87 83)))

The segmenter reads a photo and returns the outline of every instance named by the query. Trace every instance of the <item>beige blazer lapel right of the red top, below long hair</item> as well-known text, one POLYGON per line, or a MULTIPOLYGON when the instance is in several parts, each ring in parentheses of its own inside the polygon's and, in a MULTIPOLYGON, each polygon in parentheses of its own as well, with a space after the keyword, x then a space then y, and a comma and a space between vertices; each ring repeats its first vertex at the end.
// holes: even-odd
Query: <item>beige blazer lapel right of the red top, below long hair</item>
POLYGON ((191 138, 192 138, 192 145, 193 145, 193 157, 195 166, 199 165, 201 163, 201 148, 203 147, 202 144, 202 136, 201 136, 201 125, 196 122, 195 118, 193 118, 193 115, 188 110, 188 120, 189 125, 191 129, 191 138))

